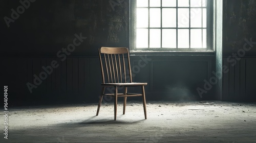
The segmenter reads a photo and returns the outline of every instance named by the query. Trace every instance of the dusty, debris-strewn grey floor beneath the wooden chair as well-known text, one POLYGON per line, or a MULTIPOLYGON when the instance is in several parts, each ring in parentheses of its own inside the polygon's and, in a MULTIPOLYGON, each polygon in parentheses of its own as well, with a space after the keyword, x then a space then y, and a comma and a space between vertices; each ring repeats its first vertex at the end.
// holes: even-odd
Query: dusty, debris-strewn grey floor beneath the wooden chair
POLYGON ((113 103, 99 116, 97 104, 12 107, 0 142, 256 142, 255 105, 147 102, 144 120, 141 102, 128 101, 125 115, 119 102, 117 121, 113 103))

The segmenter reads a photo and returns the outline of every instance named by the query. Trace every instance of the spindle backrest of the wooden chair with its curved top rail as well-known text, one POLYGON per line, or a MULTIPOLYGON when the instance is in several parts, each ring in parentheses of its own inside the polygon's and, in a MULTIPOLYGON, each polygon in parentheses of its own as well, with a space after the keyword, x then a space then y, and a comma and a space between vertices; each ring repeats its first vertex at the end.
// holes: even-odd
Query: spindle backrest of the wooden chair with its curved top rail
POLYGON ((130 55, 126 47, 101 47, 99 58, 103 83, 133 82, 130 55))

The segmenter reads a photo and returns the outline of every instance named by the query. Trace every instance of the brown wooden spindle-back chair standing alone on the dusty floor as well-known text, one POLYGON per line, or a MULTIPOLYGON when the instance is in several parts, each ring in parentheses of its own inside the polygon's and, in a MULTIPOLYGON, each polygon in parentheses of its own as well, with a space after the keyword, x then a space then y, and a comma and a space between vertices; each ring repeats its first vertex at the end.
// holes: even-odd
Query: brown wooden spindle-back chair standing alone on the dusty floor
POLYGON ((126 47, 101 47, 99 59, 102 74, 102 90, 100 94, 97 114, 104 96, 114 97, 115 120, 117 114, 117 98, 123 97, 123 114, 125 113, 126 98, 142 96, 144 115, 146 119, 146 100, 144 86, 147 83, 133 82, 129 50, 126 47), (127 56, 127 59, 125 58, 127 56), (126 63, 126 64, 125 64, 126 63), (128 67, 126 69, 126 66, 128 67), (127 93, 127 87, 140 86, 142 93, 127 93), (104 93, 106 87, 114 87, 114 93, 104 93), (118 93, 118 87, 123 87, 123 93, 118 93))

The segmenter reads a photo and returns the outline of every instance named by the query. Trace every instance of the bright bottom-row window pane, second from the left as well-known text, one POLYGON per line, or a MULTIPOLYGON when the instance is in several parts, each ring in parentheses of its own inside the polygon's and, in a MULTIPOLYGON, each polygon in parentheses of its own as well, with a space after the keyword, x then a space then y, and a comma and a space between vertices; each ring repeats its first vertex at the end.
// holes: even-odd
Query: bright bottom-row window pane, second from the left
POLYGON ((161 47, 161 30, 150 30, 150 47, 161 47))

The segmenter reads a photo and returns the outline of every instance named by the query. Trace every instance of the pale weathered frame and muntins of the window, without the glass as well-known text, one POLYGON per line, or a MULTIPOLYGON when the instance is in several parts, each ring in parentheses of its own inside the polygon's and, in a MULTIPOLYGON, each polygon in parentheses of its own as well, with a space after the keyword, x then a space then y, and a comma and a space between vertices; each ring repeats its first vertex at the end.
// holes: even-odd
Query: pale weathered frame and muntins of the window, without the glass
MULTIPOLYGON (((148 0, 148 4, 149 4, 148 0)), ((131 52, 214 52, 214 0, 206 0, 206 14, 207 14, 207 18, 206 18, 206 48, 179 48, 178 46, 176 48, 151 48, 151 47, 147 47, 147 48, 137 48, 136 47, 136 6, 137 6, 137 0, 130 0, 130 51, 131 52)), ((172 8, 182 8, 182 7, 178 7, 178 0, 176 0, 176 7, 172 7, 172 8)), ((190 0, 189 0, 190 2, 190 0)), ((146 8, 146 7, 145 7, 146 8)), ((150 6, 148 6, 147 8, 150 8, 150 6)), ((153 7, 154 8, 154 7, 153 7)), ((165 7, 160 7, 160 9, 162 10, 162 8, 165 7)), ((168 8, 168 7, 167 7, 168 8)), ((190 8, 194 8, 194 7, 184 7, 184 8, 189 8, 189 18, 190 18, 190 8)), ((149 13, 148 13, 149 14, 149 13)), ((178 15, 178 13, 176 13, 176 15, 178 15)), ((161 15, 162 16, 162 15, 161 15)), ((161 18, 162 19, 162 18, 161 18)), ((190 22, 189 22, 190 23, 190 22)), ((150 29, 150 28, 147 28, 150 29)), ((157 28, 157 29, 164 29, 162 27, 157 28)), ((184 29, 184 28, 173 28, 173 29, 184 29)), ((194 29, 194 28, 185 28, 185 29, 194 29)), ((200 29, 200 28, 196 28, 196 29, 200 29)), ((190 33, 190 32, 189 32, 190 33)), ((148 33, 149 34, 149 33, 148 33)), ((177 36, 177 33, 176 33, 177 36)), ((162 38, 161 38, 162 39, 162 38)), ((149 40, 149 39, 148 39, 149 40)), ((176 39, 177 40, 177 39, 176 39)), ((189 46, 190 46, 190 35, 189 35, 189 46)))

